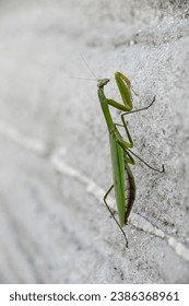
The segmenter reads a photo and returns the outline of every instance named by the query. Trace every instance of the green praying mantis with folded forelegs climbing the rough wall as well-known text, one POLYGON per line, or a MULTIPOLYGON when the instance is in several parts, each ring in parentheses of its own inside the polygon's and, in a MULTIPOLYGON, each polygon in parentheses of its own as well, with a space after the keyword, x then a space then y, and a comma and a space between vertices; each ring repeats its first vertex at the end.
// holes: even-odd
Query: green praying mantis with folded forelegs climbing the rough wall
POLYGON ((101 79, 97 80, 97 87, 98 87, 98 98, 101 103, 101 107, 105 117, 105 121, 107 125, 108 133, 109 133, 109 145, 110 145, 110 156, 111 156, 111 168, 113 168, 113 185, 104 196, 104 203, 108 209, 110 215, 115 220, 116 224, 118 225, 119 229, 121 231, 126 247, 128 247, 128 239, 126 236, 125 231, 122 229, 123 225, 127 225, 128 217, 130 215, 134 199, 135 199, 135 183, 132 172, 129 167, 129 164, 134 165, 134 158, 139 158, 142 163, 144 163, 151 169, 164 173, 164 165, 162 165, 162 169, 156 169, 145 163, 141 157, 139 157, 135 153, 133 153, 130 149, 133 148, 133 141, 130 136, 127 121, 125 120, 125 116, 129 114, 133 114, 137 111, 141 111, 151 107, 155 101, 155 96, 152 99, 151 104, 146 107, 140 109, 133 109, 132 104, 132 94, 131 91, 137 95, 134 92, 130 80, 122 73, 116 72, 115 73, 116 83, 121 95, 123 104, 120 104, 111 98, 107 98, 104 92, 104 87, 110 81, 109 79, 101 79), (125 111, 120 117, 122 125, 115 123, 109 110, 109 106, 117 108, 119 110, 125 111), (121 126, 126 130, 126 134, 128 137, 128 141, 125 141, 118 130, 118 126, 121 126), (107 203, 107 197, 110 191, 115 189, 115 197, 116 203, 118 209, 118 216, 119 220, 115 217, 114 212, 109 208, 107 203))

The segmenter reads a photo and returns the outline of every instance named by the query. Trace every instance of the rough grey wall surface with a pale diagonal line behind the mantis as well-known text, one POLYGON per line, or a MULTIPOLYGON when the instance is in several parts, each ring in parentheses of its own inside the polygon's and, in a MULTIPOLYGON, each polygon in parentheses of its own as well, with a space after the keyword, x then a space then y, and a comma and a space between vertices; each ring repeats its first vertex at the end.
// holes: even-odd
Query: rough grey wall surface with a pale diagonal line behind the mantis
MULTIPOLYGON (((0 2, 0 282, 189 282, 188 1, 0 2), (132 80, 137 199, 125 227, 103 205, 109 143, 96 82, 132 80)), ((120 113, 113 109, 115 121, 120 113)), ((111 200, 114 196, 111 195, 111 200)), ((114 201, 113 205, 114 205, 114 201)))

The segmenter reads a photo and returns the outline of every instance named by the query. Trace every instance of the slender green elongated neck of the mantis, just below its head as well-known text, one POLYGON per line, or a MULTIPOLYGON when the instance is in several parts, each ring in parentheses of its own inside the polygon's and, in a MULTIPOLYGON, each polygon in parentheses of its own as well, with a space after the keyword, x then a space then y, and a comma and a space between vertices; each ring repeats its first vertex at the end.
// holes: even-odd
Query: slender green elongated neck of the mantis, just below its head
POLYGON ((105 120, 106 120, 108 130, 109 130, 109 132, 111 132, 115 129, 115 125, 113 122, 113 118, 111 118, 111 115, 109 111, 108 101, 104 94, 103 87, 98 87, 98 97, 99 97, 101 106, 103 109, 103 114, 105 116, 105 120))

